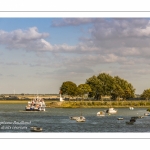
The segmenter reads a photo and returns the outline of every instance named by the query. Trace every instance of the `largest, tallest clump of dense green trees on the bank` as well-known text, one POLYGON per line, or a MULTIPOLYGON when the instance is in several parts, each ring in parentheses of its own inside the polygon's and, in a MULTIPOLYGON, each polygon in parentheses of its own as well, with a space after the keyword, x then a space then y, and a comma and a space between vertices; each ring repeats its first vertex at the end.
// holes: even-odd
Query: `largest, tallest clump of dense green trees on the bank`
POLYGON ((112 77, 109 74, 101 73, 86 80, 91 87, 89 97, 101 99, 101 96, 111 96, 114 100, 129 99, 134 97, 135 89, 126 80, 118 76, 112 77))

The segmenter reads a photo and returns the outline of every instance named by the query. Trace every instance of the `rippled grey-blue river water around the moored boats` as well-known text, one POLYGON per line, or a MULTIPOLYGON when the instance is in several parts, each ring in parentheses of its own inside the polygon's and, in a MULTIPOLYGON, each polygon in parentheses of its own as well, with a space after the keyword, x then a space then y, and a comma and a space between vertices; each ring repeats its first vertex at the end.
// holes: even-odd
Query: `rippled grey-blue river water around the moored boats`
POLYGON ((31 126, 42 127, 43 132, 150 132, 150 116, 126 125, 131 116, 144 115, 147 108, 118 108, 117 114, 105 117, 96 116, 105 108, 46 108, 45 112, 26 112, 24 108, 24 104, 0 104, 0 132, 30 132, 31 126), (69 119, 81 112, 86 122, 69 119))

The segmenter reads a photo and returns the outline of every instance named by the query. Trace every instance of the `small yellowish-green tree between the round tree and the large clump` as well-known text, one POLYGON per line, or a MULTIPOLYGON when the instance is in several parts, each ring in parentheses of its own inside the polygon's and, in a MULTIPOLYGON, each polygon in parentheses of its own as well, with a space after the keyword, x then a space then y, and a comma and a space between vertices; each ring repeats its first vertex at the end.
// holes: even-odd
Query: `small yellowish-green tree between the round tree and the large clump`
POLYGON ((85 94, 88 94, 91 92, 91 87, 88 84, 80 84, 77 87, 77 95, 82 97, 82 100, 84 98, 85 94))

